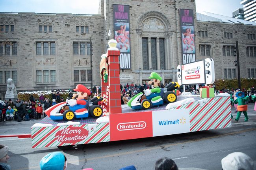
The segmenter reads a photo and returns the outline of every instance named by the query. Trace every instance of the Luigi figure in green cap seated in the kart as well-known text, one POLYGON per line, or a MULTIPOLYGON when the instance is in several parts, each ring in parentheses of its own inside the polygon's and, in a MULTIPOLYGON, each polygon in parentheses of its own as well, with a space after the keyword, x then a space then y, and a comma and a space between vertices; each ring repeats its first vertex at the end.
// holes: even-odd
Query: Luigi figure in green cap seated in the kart
POLYGON ((160 89, 162 78, 156 72, 151 72, 149 79, 151 80, 148 81, 148 85, 151 85, 152 89, 145 89, 144 93, 147 99, 156 101, 163 97, 163 90, 160 89))

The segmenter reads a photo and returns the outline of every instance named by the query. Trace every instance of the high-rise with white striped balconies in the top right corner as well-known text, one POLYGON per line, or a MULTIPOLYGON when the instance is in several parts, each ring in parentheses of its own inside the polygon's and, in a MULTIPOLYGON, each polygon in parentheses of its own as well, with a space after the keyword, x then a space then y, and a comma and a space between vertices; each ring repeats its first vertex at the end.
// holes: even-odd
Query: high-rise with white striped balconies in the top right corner
POLYGON ((256 22, 256 0, 241 0, 243 5, 243 11, 245 14, 245 20, 250 22, 256 22))

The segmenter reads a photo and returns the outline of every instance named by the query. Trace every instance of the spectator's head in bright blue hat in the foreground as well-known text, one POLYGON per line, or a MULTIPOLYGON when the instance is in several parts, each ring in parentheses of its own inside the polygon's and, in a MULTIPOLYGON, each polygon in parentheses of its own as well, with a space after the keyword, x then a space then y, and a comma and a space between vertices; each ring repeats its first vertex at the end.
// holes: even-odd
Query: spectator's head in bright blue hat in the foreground
POLYGON ((61 152, 52 152, 44 156, 40 161, 41 170, 65 170, 67 158, 61 152))

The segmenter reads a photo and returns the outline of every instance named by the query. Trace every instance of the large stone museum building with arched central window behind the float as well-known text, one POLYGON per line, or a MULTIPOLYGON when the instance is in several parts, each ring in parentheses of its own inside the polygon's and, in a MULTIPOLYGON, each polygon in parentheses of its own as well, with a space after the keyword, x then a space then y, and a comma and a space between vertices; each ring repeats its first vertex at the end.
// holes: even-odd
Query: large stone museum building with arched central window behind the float
POLYGON ((108 40, 120 35, 114 31, 114 14, 119 14, 114 5, 128 5, 124 36, 130 42, 120 48, 130 52, 120 63, 128 66, 120 69, 122 84, 148 81, 152 71, 163 82, 176 81, 177 65, 204 58, 213 58, 216 79, 237 78, 236 41, 241 77, 256 78, 256 23, 196 13, 194 0, 101 0, 98 14, 93 15, 0 13, 0 97, 6 94, 8 78, 18 92, 100 85, 101 56, 108 40), (189 36, 182 31, 182 9, 193 10, 194 22, 193 46, 185 48, 182 43, 188 44, 183 40, 189 36), (195 55, 184 58, 184 50, 195 55))

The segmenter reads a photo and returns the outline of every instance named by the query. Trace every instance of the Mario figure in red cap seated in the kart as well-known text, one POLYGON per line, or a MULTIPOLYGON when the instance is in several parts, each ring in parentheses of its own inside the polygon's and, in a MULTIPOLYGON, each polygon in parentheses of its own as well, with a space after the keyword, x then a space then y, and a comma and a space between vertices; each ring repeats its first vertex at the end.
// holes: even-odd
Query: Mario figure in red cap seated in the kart
POLYGON ((64 109, 70 109, 73 112, 83 112, 87 110, 85 109, 85 107, 88 96, 91 94, 90 90, 88 90, 84 85, 79 84, 76 86, 76 89, 74 89, 74 91, 76 91, 76 94, 73 94, 73 97, 75 99, 70 99, 68 101, 69 106, 65 106, 64 109))

